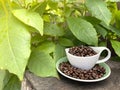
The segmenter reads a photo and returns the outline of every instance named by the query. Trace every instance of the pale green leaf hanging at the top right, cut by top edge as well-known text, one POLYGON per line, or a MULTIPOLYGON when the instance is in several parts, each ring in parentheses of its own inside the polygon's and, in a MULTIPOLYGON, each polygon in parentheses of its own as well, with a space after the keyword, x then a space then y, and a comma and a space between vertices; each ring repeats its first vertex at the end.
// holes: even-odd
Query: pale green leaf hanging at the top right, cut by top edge
POLYGON ((103 0, 86 0, 85 2, 88 10, 92 15, 109 25, 111 21, 111 13, 103 0))

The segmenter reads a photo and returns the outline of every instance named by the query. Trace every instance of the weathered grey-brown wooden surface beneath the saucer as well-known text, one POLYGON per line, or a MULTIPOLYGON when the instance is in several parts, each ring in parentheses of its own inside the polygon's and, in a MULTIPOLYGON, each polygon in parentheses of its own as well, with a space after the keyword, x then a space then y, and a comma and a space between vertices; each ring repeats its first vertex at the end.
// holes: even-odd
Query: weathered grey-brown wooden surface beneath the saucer
POLYGON ((120 62, 109 60, 107 64, 111 68, 110 77, 92 83, 73 81, 60 74, 60 79, 41 78, 27 71, 21 90, 120 90, 120 62))

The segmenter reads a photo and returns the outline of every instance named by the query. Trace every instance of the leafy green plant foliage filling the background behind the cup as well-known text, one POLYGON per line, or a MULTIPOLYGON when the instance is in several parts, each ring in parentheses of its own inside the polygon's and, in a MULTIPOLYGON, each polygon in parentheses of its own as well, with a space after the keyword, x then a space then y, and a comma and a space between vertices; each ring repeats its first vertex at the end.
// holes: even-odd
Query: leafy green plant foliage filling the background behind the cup
POLYGON ((65 47, 109 40, 120 56, 118 1, 0 0, 0 90, 20 90, 26 69, 58 77, 65 47))

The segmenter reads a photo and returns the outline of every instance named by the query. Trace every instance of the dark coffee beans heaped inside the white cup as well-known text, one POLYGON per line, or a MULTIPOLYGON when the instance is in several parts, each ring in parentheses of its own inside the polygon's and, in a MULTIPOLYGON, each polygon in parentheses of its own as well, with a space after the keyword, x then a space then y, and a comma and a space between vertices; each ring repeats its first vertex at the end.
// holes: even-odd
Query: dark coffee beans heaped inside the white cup
POLYGON ((75 56, 86 57, 93 56, 97 53, 88 46, 74 46, 69 49, 69 53, 75 56))

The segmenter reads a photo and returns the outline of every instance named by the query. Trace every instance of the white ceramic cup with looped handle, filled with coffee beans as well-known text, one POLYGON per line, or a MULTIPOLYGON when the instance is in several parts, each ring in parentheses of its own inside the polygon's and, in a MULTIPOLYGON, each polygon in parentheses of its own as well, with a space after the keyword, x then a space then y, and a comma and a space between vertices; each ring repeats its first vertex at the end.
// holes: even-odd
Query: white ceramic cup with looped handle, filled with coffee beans
POLYGON ((91 47, 97 54, 93 56, 80 57, 69 53, 69 48, 65 49, 68 61, 74 67, 81 68, 83 70, 89 70, 94 67, 95 64, 103 63, 109 60, 111 52, 106 47, 91 47), (107 56, 99 60, 101 53, 106 50, 107 56))

